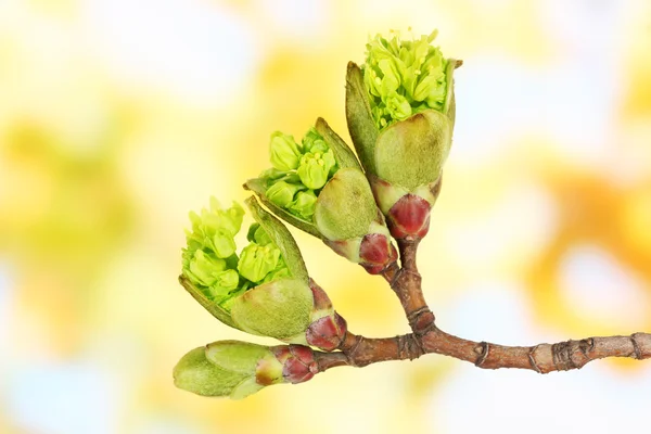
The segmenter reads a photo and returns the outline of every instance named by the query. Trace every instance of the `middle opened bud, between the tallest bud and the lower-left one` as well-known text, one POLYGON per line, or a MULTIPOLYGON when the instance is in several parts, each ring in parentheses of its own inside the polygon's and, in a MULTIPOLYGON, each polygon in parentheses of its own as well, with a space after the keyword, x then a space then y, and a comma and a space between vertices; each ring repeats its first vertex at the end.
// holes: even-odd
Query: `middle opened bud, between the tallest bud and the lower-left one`
POLYGON ((282 177, 267 170, 244 187, 273 214, 320 238, 368 272, 378 275, 395 264, 397 252, 384 217, 348 145, 319 118, 303 139, 303 151, 296 170, 282 177), (292 202, 289 184, 295 186, 292 202), (279 190, 288 197, 279 200, 279 190))

